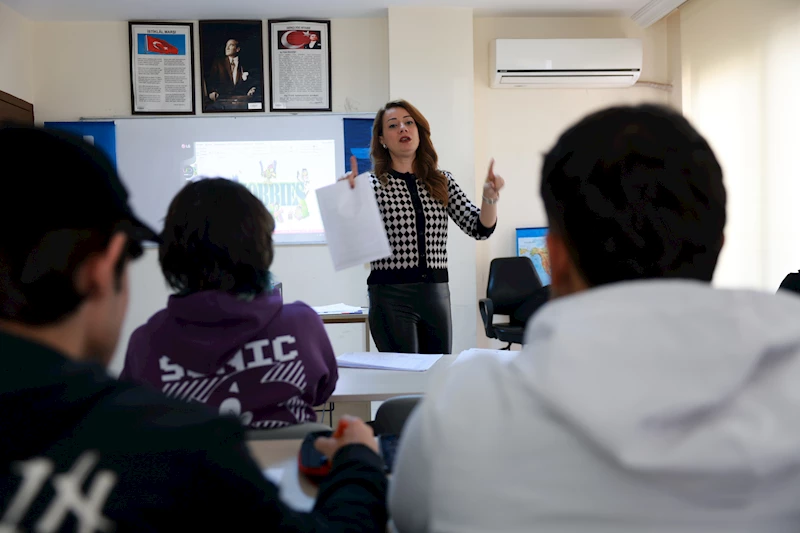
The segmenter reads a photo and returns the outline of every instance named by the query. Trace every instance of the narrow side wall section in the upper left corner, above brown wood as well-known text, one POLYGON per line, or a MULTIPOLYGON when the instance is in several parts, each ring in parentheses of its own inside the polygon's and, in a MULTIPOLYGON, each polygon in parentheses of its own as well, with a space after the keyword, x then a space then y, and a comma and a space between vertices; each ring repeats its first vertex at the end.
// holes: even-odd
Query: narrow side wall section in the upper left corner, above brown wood
POLYGON ((33 65, 33 23, 0 3, 0 91, 34 103, 33 65))

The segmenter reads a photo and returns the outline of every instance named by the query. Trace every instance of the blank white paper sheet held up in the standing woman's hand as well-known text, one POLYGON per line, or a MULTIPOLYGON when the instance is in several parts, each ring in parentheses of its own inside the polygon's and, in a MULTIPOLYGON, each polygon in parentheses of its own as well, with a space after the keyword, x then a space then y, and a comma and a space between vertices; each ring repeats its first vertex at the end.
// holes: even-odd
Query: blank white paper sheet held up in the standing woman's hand
POLYGON ((369 174, 356 177, 355 189, 347 180, 317 189, 317 202, 334 270, 392 254, 369 174))

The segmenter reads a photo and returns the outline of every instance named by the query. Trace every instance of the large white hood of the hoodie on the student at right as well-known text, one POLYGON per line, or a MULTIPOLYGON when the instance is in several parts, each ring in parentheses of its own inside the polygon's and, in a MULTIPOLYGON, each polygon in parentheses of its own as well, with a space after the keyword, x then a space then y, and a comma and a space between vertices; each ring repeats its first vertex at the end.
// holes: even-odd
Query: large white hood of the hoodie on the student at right
POLYGON ((620 468, 735 506, 798 474, 798 319, 793 295, 622 283, 549 303, 510 364, 620 468))

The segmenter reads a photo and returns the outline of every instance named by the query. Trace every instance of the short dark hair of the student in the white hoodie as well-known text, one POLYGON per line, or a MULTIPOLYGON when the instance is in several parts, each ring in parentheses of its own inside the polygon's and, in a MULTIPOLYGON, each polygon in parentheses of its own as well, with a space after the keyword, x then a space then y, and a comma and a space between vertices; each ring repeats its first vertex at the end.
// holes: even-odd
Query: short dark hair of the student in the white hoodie
POLYGON ((711 281, 725 227, 722 169, 679 113, 640 105, 587 116, 545 156, 541 195, 550 230, 590 286, 711 281))

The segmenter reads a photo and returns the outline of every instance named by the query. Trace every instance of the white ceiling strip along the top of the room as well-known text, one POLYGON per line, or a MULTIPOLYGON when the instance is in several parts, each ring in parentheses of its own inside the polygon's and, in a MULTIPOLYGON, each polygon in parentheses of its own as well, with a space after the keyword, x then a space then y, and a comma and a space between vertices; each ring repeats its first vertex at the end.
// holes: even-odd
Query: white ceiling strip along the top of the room
POLYGON ((391 6, 471 7, 478 16, 631 16, 649 0, 0 0, 33 20, 382 17, 391 6))

